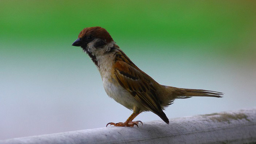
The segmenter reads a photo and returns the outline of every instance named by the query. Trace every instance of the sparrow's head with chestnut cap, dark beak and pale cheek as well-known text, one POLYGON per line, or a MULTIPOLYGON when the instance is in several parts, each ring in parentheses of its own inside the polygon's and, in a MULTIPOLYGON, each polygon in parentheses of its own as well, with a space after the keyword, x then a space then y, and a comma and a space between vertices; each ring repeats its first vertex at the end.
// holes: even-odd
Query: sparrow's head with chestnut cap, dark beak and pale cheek
POLYGON ((72 46, 81 46, 89 55, 98 55, 107 52, 114 43, 106 29, 96 26, 83 29, 72 46))

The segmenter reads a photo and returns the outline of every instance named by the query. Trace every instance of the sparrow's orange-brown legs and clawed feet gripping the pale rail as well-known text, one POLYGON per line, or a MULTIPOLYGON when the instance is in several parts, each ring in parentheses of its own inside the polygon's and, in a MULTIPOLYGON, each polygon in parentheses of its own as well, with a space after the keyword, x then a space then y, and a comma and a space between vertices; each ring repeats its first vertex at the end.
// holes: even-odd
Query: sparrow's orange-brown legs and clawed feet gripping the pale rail
POLYGON ((132 127, 134 125, 138 126, 139 122, 142 123, 141 121, 132 121, 138 114, 140 113, 133 112, 132 115, 125 122, 118 122, 118 123, 109 122, 106 126, 108 126, 109 124, 114 126, 129 126, 129 127, 132 127))

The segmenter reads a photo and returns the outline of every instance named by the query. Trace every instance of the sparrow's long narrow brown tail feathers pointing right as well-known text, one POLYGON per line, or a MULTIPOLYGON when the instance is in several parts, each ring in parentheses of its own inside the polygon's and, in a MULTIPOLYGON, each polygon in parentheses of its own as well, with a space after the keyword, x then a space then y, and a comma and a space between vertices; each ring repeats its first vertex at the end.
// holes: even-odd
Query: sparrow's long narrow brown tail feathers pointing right
POLYGON ((198 89, 187 89, 187 88, 180 88, 184 93, 182 96, 178 96, 178 99, 190 98, 192 96, 210 96, 221 98, 223 93, 217 91, 208 91, 208 90, 198 90, 198 89))

